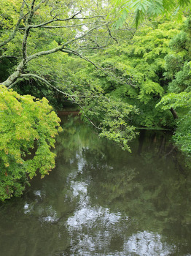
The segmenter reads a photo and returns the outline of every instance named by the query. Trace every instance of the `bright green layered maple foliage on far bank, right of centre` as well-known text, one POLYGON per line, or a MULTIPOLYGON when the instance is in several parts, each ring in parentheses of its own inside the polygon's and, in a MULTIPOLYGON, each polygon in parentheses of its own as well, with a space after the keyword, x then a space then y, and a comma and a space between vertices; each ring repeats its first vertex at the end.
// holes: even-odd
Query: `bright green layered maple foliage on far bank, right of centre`
POLYGON ((151 25, 136 31, 131 40, 97 54, 93 61, 100 63, 107 74, 92 70, 90 75, 99 80, 105 93, 139 108, 139 116, 133 116, 134 125, 171 127, 171 113, 161 112, 155 105, 167 90, 164 58, 171 51, 169 42, 179 33, 180 25, 171 21, 151 25))

